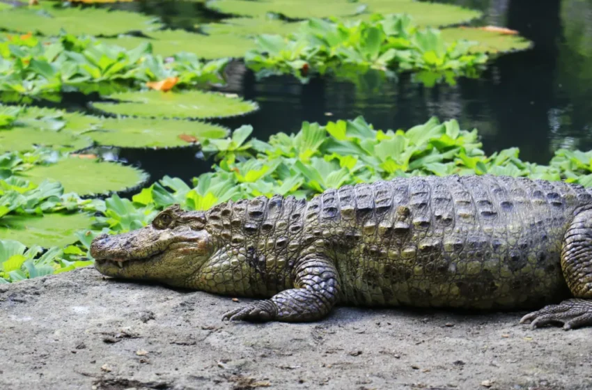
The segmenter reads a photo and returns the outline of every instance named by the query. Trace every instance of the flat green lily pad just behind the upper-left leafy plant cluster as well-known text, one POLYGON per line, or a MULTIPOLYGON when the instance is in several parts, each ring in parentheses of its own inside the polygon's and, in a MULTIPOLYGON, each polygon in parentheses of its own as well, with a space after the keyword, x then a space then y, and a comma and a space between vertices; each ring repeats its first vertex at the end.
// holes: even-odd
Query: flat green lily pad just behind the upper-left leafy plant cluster
POLYGON ((247 50, 255 47, 253 39, 234 34, 205 35, 185 30, 164 30, 152 31, 147 35, 153 39, 121 36, 106 41, 125 49, 134 49, 143 42, 150 42, 154 54, 172 56, 179 52, 190 52, 201 59, 242 58, 247 50))

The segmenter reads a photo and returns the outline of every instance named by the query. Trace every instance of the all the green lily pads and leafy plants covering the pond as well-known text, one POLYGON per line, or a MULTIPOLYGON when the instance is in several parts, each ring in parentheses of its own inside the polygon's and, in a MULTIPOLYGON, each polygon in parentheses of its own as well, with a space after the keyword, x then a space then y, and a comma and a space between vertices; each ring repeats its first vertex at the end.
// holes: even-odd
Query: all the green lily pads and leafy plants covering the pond
POLYGON ((530 45, 508 31, 437 29, 480 16, 455 6, 302 3, 208 1, 239 17, 195 31, 169 30, 139 13, 1 3, 0 28, 8 32, 0 36, 0 283, 90 265, 95 235, 145 226, 173 203, 205 210, 230 199, 310 198, 344 184, 451 173, 592 185, 592 155, 559 150, 548 166, 522 162, 517 149, 486 156, 477 131, 460 130, 455 120, 433 118, 407 131, 375 130, 364 118, 303 123, 297 134, 267 141, 251 138, 248 125, 231 132, 214 123, 258 109, 216 92, 232 57, 261 77, 306 81, 373 69, 413 72, 431 85, 476 75, 490 54, 530 45), (93 102, 84 112, 36 107, 66 93, 92 93, 93 102), (215 164, 191 185, 165 176, 142 187, 145 172, 101 161, 95 146, 201 146, 215 164), (135 194, 118 196, 124 191, 135 194))

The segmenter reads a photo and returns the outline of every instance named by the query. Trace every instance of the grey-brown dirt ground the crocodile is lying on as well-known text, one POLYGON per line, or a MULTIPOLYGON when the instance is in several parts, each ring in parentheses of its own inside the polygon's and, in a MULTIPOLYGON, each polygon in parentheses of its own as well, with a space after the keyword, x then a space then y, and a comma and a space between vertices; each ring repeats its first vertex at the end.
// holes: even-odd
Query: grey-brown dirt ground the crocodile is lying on
POLYGON ((592 389, 592 328, 345 307, 221 321, 244 302, 93 268, 0 285, 0 389, 592 389))

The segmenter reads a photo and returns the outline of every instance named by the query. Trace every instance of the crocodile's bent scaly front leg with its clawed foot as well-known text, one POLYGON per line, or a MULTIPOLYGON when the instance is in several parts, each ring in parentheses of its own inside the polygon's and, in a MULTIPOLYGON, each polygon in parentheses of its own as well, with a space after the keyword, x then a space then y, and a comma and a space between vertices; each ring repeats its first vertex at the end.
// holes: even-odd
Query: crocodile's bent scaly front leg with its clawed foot
POLYGON ((325 317, 337 300, 335 265, 320 256, 299 260, 295 288, 283 290, 271 299, 256 301, 229 311, 222 320, 305 322, 325 317))

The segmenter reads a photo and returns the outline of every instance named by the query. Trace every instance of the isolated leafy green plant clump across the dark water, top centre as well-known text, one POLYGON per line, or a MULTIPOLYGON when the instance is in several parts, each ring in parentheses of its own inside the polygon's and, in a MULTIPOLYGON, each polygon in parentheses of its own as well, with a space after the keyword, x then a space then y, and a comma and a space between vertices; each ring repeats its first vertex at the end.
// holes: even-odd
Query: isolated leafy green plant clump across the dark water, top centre
POLYGON ((260 75, 291 73, 306 81, 315 73, 369 69, 416 71, 453 79, 474 76, 487 61, 485 54, 470 54, 466 40, 445 42, 437 29, 418 29, 407 15, 376 16, 372 22, 302 24, 289 38, 260 36, 257 49, 245 56, 260 75))

